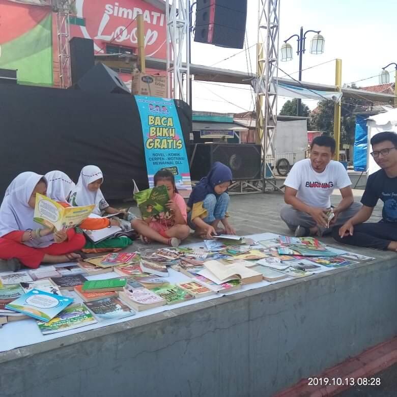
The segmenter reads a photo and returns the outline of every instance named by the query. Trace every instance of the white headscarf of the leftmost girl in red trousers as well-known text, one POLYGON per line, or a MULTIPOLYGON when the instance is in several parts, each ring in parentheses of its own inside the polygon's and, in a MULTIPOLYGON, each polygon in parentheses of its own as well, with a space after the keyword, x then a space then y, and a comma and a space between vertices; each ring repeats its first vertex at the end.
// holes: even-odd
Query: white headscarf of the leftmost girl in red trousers
MULTIPOLYGON (((33 220, 35 210, 29 207, 29 199, 42 175, 25 172, 19 174, 6 190, 0 207, 0 237, 17 230, 44 229, 33 220)), ((33 241, 25 241, 30 247, 48 247, 53 243, 53 235, 44 236, 33 241)))

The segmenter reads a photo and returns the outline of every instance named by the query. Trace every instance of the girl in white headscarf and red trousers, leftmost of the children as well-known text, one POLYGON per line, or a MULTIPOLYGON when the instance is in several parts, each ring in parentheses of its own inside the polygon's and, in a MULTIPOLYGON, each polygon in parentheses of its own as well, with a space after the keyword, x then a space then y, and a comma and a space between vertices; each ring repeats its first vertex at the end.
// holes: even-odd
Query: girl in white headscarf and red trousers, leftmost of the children
POLYGON ((33 269, 40 263, 77 260, 86 243, 74 229, 55 232, 33 220, 36 193, 46 194, 47 181, 33 172, 19 174, 7 188, 0 207, 0 270, 33 269))

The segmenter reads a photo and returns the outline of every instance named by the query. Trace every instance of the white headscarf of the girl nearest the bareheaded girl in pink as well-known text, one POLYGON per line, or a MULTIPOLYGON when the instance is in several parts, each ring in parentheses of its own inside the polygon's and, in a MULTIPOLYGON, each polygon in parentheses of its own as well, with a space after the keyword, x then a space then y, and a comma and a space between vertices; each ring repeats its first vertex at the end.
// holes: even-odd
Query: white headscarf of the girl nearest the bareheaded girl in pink
POLYGON ((88 185, 98 179, 103 180, 102 171, 96 165, 86 165, 81 170, 76 187, 73 189, 69 198, 72 206, 89 206, 95 204, 93 214, 101 215, 101 212, 109 207, 101 189, 91 191, 88 185))

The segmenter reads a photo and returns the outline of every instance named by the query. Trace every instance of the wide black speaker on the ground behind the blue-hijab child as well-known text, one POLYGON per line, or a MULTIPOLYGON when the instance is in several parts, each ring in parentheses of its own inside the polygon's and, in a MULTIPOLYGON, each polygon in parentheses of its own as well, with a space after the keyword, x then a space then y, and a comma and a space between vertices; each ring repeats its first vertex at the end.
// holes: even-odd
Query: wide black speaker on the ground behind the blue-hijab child
POLYGON ((190 177, 199 181, 215 161, 232 170, 233 180, 261 179, 261 145, 254 144, 196 144, 191 145, 193 163, 190 177))

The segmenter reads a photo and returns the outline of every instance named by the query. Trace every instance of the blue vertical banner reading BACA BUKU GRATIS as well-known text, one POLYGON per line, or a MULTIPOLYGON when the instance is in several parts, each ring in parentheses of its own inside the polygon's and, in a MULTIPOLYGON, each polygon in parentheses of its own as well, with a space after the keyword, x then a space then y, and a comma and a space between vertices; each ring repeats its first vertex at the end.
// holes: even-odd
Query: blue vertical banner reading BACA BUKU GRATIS
POLYGON ((173 99, 135 95, 139 110, 149 187, 160 169, 169 169, 183 197, 191 192, 189 161, 177 108, 173 99))

